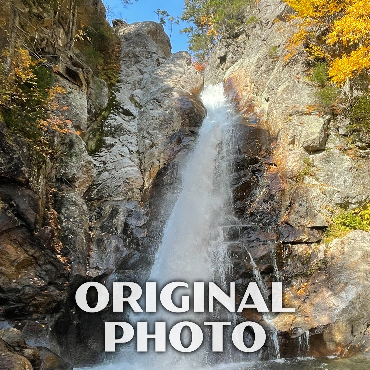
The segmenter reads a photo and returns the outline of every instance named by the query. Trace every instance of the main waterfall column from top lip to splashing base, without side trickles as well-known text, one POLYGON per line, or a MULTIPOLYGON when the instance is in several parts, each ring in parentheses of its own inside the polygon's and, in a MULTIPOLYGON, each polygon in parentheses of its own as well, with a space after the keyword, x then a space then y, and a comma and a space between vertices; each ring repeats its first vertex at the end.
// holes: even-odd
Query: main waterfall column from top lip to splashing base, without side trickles
MULTIPOLYGON (((172 281, 186 282, 189 287, 193 282, 212 281, 225 289, 231 268, 222 226, 232 215, 229 184, 234 147, 230 114, 232 107, 223 94, 221 84, 206 87, 202 100, 208 115, 199 131, 195 148, 188 157, 182 176, 182 191, 167 220, 149 277, 149 281, 157 282, 158 290, 172 281)), ((175 304, 181 293, 181 289, 174 292, 172 299, 175 304)), ((225 317, 225 310, 222 312, 225 317)), ((190 311, 171 315, 162 309, 146 315, 132 314, 131 321, 133 324, 135 321, 147 321, 151 330, 154 322, 158 321, 165 321, 171 327, 179 321, 200 323, 213 321, 213 317, 220 321, 222 314, 216 309, 213 313, 199 314, 190 311)), ((234 320, 227 316, 223 321, 234 320)), ((182 340, 186 343, 186 336, 182 340)), ((150 352, 137 353, 133 346, 131 349, 126 347, 120 354, 124 361, 120 361, 117 356, 114 364, 101 365, 95 369, 163 369, 165 366, 171 369, 194 368, 215 362, 209 361, 209 351, 202 350, 204 347, 203 343, 194 353, 179 356, 171 349, 165 353, 155 353, 149 342, 150 352)), ((225 358, 225 353, 223 356, 225 358)))

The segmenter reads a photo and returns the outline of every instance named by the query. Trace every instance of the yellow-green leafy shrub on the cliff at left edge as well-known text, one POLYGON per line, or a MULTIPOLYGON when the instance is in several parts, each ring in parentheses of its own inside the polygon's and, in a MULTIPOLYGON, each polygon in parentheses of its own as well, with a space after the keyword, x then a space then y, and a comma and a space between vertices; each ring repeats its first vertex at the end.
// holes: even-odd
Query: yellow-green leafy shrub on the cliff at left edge
POLYGON ((53 72, 42 59, 31 57, 28 50, 17 48, 7 64, 7 53, 0 58, 1 120, 24 137, 37 141, 47 128, 67 132, 65 121, 55 120, 55 97, 64 89, 54 85, 53 72))

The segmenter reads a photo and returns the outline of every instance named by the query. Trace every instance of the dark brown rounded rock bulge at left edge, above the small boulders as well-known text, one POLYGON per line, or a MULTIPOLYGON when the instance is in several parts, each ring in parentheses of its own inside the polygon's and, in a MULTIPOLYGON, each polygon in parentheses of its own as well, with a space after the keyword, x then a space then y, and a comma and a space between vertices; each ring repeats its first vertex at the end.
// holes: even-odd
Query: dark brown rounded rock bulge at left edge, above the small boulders
MULTIPOLYGON (((0 222, 4 225, 9 220, 1 218, 0 222)), ((24 228, 13 226, 0 233, 0 298, 7 318, 44 317, 60 309, 67 296, 67 270, 40 245, 24 228)))

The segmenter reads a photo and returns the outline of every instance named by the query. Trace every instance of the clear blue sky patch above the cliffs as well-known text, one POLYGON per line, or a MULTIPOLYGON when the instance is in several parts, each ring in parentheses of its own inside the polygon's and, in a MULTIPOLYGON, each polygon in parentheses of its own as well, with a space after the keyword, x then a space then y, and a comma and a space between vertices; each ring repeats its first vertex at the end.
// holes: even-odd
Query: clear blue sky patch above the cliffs
MULTIPOLYGON (((133 1, 132 4, 124 7, 121 0, 103 0, 108 9, 108 20, 121 18, 127 23, 141 21, 157 21, 157 14, 154 13, 158 8, 166 10, 175 19, 181 16, 182 8, 184 7, 183 0, 139 0, 133 1)), ((180 50, 188 50, 188 37, 185 33, 181 34, 180 29, 186 27, 187 23, 174 25, 171 36, 172 53, 180 50)), ((167 26, 164 26, 165 31, 169 34, 167 26)))

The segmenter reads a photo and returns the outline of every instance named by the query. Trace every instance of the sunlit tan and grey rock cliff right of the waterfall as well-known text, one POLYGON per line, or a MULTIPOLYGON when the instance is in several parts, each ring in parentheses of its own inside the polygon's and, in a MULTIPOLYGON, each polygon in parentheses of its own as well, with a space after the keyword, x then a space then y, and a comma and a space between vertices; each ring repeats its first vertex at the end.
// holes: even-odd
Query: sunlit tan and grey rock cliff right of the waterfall
POLYGON ((248 252, 267 285, 283 279, 285 303, 296 313, 273 320, 282 356, 297 354, 296 338, 307 330, 316 356, 367 356, 370 234, 325 243, 323 231, 340 209, 369 203, 370 162, 364 145, 355 144, 356 156, 343 152, 348 120, 310 110, 316 87, 303 52, 283 59, 289 11, 283 1, 260 0, 258 22, 221 40, 205 72, 206 83, 223 81, 246 122, 256 121, 242 129, 234 175, 235 210, 245 224, 228 229, 235 279, 244 287, 253 278, 248 252))

